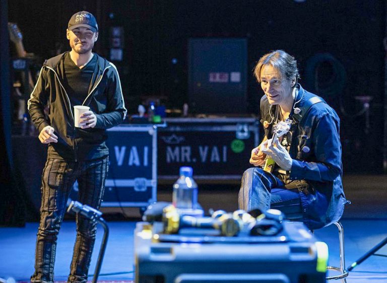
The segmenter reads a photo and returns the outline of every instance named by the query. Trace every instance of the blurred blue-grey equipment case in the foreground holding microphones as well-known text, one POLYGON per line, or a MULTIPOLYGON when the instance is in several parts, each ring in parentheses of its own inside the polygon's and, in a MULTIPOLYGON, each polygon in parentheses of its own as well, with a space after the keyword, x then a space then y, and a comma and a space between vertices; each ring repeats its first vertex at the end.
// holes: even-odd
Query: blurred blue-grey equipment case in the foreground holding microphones
MULTIPOLYGON (((136 282, 322 283, 328 246, 302 223, 284 222, 277 236, 188 237, 164 241, 148 223, 135 230, 136 282)), ((173 237, 166 235, 167 239, 173 237)))

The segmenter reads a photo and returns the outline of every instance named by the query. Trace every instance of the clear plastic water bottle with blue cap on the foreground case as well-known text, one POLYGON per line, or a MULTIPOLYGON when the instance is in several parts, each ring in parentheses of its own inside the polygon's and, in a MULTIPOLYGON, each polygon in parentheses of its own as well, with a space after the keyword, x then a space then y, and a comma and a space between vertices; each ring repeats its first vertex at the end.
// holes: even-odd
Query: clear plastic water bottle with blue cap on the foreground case
POLYGON ((198 205, 198 185, 192 178, 192 167, 180 167, 180 177, 173 184, 172 204, 180 214, 202 216, 198 205))

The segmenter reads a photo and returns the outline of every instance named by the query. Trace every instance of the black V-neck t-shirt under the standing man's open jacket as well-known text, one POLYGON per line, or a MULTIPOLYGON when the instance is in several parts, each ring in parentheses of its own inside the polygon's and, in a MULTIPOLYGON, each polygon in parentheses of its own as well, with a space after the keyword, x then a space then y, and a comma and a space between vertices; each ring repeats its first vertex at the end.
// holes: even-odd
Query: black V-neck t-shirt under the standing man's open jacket
POLYGON ((70 53, 64 56, 63 62, 63 87, 69 95, 71 108, 74 111, 73 106, 82 105, 91 91, 96 76, 97 56, 93 55, 93 58, 81 69, 71 59, 70 53))

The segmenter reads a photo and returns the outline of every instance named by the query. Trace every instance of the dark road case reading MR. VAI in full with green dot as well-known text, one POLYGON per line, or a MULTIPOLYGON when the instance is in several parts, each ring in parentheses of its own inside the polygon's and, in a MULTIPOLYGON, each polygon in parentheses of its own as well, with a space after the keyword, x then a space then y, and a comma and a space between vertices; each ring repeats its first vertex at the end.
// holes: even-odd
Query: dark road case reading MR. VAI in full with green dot
POLYGON ((240 180, 259 144, 255 118, 167 118, 158 132, 158 178, 170 182, 180 166, 191 166, 195 180, 240 180))

